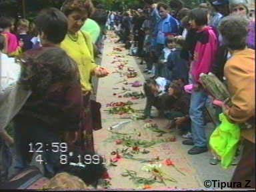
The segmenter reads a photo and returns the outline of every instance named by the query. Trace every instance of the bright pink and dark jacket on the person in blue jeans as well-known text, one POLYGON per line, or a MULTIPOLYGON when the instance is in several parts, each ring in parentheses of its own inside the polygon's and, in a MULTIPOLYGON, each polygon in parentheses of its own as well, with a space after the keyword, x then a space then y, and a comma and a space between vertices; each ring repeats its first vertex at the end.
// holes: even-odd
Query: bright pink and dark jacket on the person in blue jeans
POLYGON ((191 63, 191 74, 195 83, 199 83, 199 75, 201 73, 207 74, 211 72, 219 47, 218 37, 212 27, 205 27, 201 31, 197 31, 197 33, 199 33, 199 39, 195 45, 194 61, 191 63))

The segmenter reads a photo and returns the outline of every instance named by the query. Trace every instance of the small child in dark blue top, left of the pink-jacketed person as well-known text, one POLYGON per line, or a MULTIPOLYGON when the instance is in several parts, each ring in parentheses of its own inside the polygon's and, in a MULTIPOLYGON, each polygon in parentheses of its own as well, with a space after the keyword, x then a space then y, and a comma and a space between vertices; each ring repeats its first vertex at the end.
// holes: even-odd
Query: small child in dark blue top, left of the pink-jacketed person
POLYGON ((182 79, 185 83, 188 82, 189 62, 181 58, 185 40, 182 37, 175 37, 174 47, 167 59, 167 69, 171 71, 171 81, 182 79))

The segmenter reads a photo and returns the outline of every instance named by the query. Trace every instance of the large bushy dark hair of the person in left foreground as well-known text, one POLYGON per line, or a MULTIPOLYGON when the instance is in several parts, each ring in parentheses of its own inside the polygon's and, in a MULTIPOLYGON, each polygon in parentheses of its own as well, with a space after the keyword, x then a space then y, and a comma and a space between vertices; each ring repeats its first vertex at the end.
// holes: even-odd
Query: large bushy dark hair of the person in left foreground
POLYGON ((45 95, 54 83, 65 87, 79 82, 77 64, 59 47, 47 48, 37 57, 25 55, 19 62, 21 84, 38 95, 45 95))

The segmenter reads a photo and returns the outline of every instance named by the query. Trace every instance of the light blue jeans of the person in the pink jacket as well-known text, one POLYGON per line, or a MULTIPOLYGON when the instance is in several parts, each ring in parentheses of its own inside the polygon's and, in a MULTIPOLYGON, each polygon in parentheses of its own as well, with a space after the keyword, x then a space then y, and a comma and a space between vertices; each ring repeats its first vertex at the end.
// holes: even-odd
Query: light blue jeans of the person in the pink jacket
POLYGON ((203 90, 193 91, 191 94, 189 116, 191 118, 191 132, 193 142, 196 147, 207 147, 205 137, 205 105, 207 102, 207 93, 203 90))

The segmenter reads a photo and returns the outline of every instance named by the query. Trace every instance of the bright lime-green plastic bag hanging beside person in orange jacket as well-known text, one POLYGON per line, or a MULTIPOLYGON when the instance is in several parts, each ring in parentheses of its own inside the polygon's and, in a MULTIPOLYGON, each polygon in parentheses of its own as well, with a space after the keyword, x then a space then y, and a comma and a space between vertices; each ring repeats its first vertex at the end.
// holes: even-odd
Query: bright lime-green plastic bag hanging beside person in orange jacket
POLYGON ((219 121, 221 124, 213 131, 209 145, 221 157, 221 166, 227 169, 233 162, 239 147, 240 127, 229 122, 223 113, 219 115, 219 121))

